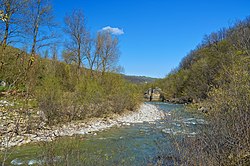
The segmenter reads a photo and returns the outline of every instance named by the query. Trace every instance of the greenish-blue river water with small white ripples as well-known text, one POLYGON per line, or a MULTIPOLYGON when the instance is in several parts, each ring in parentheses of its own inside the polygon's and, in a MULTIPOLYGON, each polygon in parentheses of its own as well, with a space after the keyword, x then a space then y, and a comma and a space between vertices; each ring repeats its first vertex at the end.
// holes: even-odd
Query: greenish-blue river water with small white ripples
POLYGON ((178 165, 173 143, 195 137, 206 121, 184 105, 151 104, 166 112, 164 120, 17 147, 7 165, 178 165))

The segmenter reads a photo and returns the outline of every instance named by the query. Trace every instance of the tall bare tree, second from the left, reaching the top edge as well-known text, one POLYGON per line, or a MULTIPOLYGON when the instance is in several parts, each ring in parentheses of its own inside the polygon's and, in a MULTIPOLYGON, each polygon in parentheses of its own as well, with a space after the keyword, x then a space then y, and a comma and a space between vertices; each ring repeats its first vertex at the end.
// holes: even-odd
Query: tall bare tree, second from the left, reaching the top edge
POLYGON ((56 38, 52 31, 56 25, 50 0, 30 0, 25 15, 23 26, 32 40, 31 55, 34 56, 39 48, 50 46, 56 38))

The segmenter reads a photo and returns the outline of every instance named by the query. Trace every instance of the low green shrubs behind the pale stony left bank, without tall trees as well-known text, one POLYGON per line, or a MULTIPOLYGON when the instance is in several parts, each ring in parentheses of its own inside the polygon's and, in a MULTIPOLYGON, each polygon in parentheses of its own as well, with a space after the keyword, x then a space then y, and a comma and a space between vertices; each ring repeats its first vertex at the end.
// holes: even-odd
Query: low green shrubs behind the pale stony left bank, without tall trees
POLYGON ((0 78, 23 96, 36 99, 49 124, 134 110, 141 101, 139 86, 121 75, 101 74, 56 60, 35 57, 7 47, 0 78))

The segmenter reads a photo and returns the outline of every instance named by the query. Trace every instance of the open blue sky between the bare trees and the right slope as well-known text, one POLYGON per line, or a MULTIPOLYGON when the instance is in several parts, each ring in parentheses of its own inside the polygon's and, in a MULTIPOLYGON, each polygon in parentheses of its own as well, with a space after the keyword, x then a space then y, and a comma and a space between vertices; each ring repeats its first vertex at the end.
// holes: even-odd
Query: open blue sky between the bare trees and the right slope
POLYGON ((93 35, 113 30, 127 75, 165 77, 203 36, 250 16, 250 0, 53 0, 56 21, 82 9, 93 35))

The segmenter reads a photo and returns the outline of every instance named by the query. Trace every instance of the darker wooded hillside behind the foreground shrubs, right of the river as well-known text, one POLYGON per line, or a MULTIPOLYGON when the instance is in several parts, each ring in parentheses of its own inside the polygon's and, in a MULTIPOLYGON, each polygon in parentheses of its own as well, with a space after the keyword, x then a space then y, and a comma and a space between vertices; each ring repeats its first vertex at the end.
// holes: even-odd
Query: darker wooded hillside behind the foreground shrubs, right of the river
POLYGON ((219 31, 207 36, 201 46, 183 58, 174 73, 158 81, 157 86, 162 87, 166 98, 184 98, 200 102, 208 98, 211 90, 223 86, 228 81, 227 77, 221 77, 225 68, 231 68, 237 59, 241 61, 241 57, 249 52, 248 48, 243 47, 248 44, 247 40, 242 43, 242 40, 248 38, 245 36, 247 34, 236 35, 241 34, 238 26, 250 29, 249 20, 245 22, 236 24, 225 32, 219 31), (241 44, 242 47, 236 44, 241 44))

